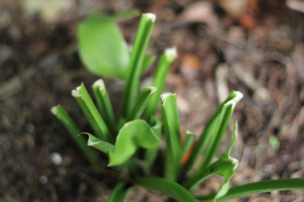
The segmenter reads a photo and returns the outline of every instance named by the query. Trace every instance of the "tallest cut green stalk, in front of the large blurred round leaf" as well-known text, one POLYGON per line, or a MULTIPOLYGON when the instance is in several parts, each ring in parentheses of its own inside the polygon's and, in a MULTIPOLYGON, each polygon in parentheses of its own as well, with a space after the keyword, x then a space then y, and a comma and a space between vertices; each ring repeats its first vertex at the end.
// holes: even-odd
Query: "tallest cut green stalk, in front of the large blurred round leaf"
POLYGON ((146 50, 155 19, 155 14, 145 13, 142 15, 140 20, 131 54, 130 65, 128 67, 128 77, 123 93, 122 115, 124 117, 129 116, 135 102, 135 97, 138 93, 140 74, 143 68, 143 61, 146 55, 146 50))

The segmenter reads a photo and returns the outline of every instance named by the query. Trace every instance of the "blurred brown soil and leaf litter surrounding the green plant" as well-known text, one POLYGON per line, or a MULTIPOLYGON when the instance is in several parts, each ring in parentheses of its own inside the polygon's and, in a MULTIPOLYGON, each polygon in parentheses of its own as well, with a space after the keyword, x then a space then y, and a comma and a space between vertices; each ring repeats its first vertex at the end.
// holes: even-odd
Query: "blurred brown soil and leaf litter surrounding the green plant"
MULTIPOLYGON (((77 25, 92 12, 134 8, 157 15, 148 53, 159 56, 177 46, 166 91, 177 93, 183 136, 187 129, 199 135, 231 90, 244 93, 232 117, 239 123, 232 156, 240 161, 232 186, 304 177, 304 1, 1 0, 1 201, 109 197, 119 178, 87 166, 50 108, 61 104, 80 128, 91 130, 71 96, 81 82, 91 86, 98 79, 79 60, 77 25)), ((117 23, 130 44, 139 19, 117 23)), ((144 87, 154 68, 143 74, 144 87)), ((119 110, 123 82, 105 82, 119 110)), ((230 144, 231 126, 219 152, 230 144)), ((196 194, 217 190, 222 180, 211 177, 196 194)), ((166 199, 138 189, 126 201, 166 199)), ((304 192, 275 191, 234 201, 304 201, 304 192)))

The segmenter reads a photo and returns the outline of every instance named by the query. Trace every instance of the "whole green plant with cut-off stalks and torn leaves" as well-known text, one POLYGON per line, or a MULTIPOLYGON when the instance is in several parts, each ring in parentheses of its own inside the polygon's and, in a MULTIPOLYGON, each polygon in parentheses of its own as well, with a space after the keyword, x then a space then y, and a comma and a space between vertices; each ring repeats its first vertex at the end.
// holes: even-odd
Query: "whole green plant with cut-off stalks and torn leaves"
POLYGON ((196 136, 187 130, 181 140, 176 94, 162 92, 169 67, 177 57, 176 49, 164 50, 158 60, 153 86, 140 89, 140 75, 156 58, 146 54, 156 16, 152 13, 141 16, 131 51, 115 25, 119 16, 129 15, 90 15, 79 25, 78 39, 80 57, 89 71, 125 80, 121 115, 115 116, 102 79, 92 84, 96 103, 83 83, 72 91, 93 132, 81 132, 62 106, 51 110, 78 143, 88 163, 101 166, 93 151, 100 150, 108 155, 108 167, 116 167, 120 175, 126 176, 114 188, 108 201, 123 201, 134 186, 159 191, 183 202, 227 201, 272 190, 304 189, 303 178, 265 180, 230 188, 229 180, 238 163, 230 157, 237 138, 237 123, 233 125, 228 150, 218 160, 212 160, 233 109, 243 94, 232 91, 209 119, 202 134, 196 136), (155 117, 159 106, 161 117, 155 117), (162 142, 164 149, 160 149, 162 142), (187 158, 183 158, 185 153, 187 158), (161 160, 164 162, 160 163, 161 160), (153 172, 157 166, 161 167, 157 170, 163 171, 153 172), (219 190, 207 196, 194 196, 192 193, 211 175, 224 177, 219 190))

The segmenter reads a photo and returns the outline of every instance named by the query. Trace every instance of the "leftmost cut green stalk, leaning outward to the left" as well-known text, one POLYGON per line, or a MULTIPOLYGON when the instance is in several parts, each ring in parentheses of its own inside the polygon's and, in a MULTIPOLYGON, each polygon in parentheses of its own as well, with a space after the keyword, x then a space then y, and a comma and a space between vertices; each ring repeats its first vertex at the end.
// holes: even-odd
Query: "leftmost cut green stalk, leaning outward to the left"
POLYGON ((85 137, 78 136, 79 133, 81 133, 80 129, 76 125, 76 123, 73 121, 71 116, 64 110, 64 108, 60 105, 54 106, 51 109, 51 112, 63 123, 63 125, 67 128, 67 130, 70 132, 72 138, 75 140, 75 142, 78 144, 80 149, 82 150, 82 153, 85 155, 87 160, 91 163, 93 166, 100 166, 99 160, 96 157, 95 153, 87 146, 87 140, 85 140, 85 137))

